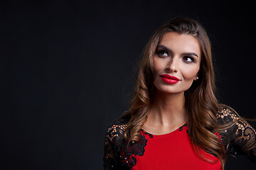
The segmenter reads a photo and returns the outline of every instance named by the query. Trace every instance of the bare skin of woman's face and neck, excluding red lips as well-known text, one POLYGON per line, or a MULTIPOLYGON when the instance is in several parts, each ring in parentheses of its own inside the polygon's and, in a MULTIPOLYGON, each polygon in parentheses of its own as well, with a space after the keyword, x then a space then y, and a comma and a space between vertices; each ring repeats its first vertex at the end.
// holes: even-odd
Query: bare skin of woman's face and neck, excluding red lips
POLYGON ((201 47, 192 35, 169 32, 156 48, 154 64, 154 101, 143 129, 154 135, 173 132, 188 121, 184 91, 196 81, 201 64, 201 47), (160 75, 169 74, 180 81, 167 84, 160 75))

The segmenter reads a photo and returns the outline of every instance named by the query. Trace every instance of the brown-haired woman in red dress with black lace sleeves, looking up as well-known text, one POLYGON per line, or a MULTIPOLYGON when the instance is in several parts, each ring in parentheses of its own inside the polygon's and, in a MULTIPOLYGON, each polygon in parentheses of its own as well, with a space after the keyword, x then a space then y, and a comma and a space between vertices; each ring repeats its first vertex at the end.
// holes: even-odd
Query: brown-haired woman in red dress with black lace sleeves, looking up
POLYGON ((226 152, 255 161, 255 130, 214 90, 206 31, 167 22, 146 45, 129 111, 107 131, 105 169, 224 169, 226 152))

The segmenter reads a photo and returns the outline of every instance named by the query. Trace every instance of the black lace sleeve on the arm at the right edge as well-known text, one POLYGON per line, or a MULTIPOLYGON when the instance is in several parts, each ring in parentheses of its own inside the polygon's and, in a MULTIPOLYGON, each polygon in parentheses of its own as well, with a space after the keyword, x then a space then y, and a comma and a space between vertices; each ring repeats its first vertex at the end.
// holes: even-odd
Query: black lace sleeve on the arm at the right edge
POLYGON ((232 108, 222 107, 217 115, 218 123, 230 125, 222 134, 224 145, 230 154, 247 154, 252 162, 256 162, 256 131, 241 118, 232 108))

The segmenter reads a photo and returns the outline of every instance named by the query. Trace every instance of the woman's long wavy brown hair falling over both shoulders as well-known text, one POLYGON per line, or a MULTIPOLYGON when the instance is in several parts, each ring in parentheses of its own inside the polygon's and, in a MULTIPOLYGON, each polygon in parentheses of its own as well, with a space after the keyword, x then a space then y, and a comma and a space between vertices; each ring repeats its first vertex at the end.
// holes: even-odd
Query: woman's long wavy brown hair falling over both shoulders
MULTIPOLYGON (((152 72, 153 57, 156 47, 163 35, 167 32, 192 35, 201 45, 201 66, 198 72, 198 81, 194 81, 191 88, 185 91, 186 109, 188 111, 188 135, 191 137, 193 148, 203 158, 199 147, 214 154, 220 160, 221 166, 225 164, 225 150, 220 144, 218 137, 213 133, 218 129, 216 114, 218 113, 218 101, 215 98, 215 76, 211 55, 210 40, 205 29, 197 21, 190 18, 174 18, 168 21, 161 28, 156 30, 154 35, 144 49, 142 62, 137 79, 137 86, 134 98, 130 103, 130 121, 124 132, 124 137, 129 141, 138 141, 141 135, 140 130, 146 122, 152 98, 154 97, 154 77, 152 72)), ((206 159, 208 162, 212 160, 206 159)))

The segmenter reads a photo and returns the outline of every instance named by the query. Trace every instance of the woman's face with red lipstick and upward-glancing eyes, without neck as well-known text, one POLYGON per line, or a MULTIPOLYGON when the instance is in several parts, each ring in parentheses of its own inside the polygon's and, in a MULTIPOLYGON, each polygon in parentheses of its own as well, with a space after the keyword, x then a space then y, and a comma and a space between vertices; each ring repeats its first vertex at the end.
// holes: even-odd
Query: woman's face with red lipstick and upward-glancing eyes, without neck
POLYGON ((153 58, 154 86, 168 94, 183 93, 196 80, 200 62, 201 48, 196 38, 165 33, 153 58))

